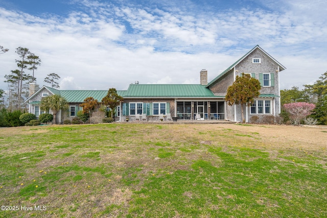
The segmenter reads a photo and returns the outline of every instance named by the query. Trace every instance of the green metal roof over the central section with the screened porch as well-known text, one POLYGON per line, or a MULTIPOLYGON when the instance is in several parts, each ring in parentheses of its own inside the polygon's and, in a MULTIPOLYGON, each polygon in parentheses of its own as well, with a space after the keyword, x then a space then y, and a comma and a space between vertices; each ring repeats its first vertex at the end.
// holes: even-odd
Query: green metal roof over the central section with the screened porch
POLYGON ((124 98, 217 98, 203 85, 130 84, 124 98))

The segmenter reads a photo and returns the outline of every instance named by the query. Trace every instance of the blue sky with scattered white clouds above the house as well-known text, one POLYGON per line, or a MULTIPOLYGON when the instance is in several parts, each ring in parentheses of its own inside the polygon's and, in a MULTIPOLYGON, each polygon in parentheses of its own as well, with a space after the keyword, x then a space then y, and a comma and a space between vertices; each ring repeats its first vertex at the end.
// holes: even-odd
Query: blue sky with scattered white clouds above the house
POLYGON ((326 1, 0 0, 0 88, 27 47, 61 89, 127 89, 130 83, 199 84, 259 44, 287 69, 281 89, 327 70, 326 1))

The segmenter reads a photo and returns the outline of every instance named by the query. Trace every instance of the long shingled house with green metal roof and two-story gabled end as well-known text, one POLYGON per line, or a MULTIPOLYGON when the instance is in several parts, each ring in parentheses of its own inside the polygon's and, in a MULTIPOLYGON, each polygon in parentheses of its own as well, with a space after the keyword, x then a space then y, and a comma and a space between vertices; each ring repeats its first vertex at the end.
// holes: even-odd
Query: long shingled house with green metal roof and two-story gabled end
MULTIPOLYGON (((147 120, 158 120, 159 116, 171 114, 178 119, 224 119, 241 122, 241 106, 229 106, 225 101, 227 88, 235 81, 236 76, 250 74, 261 83, 260 96, 254 103, 245 106, 245 121, 252 117, 276 116, 281 113, 279 72, 286 69, 273 57, 266 53, 259 45, 253 47, 238 61, 224 70, 211 82, 207 82, 207 70, 200 71, 200 84, 130 84, 127 90, 118 91, 124 102, 117 108, 116 116, 121 122, 141 119, 145 114, 147 120), (161 114, 161 115, 160 115, 161 114)), ((34 86, 32 86, 32 89, 34 86)), ((107 90, 58 90, 43 86, 31 94, 29 112, 38 116, 39 104, 44 96, 60 94, 69 102, 69 111, 60 112, 58 121, 77 115, 79 106, 87 97, 98 101, 107 94, 107 90)))

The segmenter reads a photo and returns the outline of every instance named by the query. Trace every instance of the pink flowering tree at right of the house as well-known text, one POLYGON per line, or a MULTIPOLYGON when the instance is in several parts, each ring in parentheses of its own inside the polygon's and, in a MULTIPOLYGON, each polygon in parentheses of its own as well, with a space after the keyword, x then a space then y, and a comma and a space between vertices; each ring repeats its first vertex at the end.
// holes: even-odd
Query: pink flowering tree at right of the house
POLYGON ((290 113, 290 119, 295 125, 299 124, 301 119, 312 114, 312 110, 315 107, 316 106, 314 104, 307 102, 284 104, 285 110, 290 113))

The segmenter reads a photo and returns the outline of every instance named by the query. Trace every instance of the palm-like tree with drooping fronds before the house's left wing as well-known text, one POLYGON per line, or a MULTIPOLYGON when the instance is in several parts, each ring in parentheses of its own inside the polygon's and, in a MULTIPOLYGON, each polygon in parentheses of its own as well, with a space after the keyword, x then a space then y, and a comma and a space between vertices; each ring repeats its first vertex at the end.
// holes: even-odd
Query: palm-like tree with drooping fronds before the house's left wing
POLYGON ((53 124, 56 124, 57 112, 61 110, 67 110, 69 104, 65 98, 60 95, 50 95, 42 99, 40 108, 41 110, 49 111, 52 110, 53 113, 53 124))

